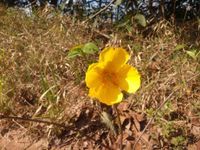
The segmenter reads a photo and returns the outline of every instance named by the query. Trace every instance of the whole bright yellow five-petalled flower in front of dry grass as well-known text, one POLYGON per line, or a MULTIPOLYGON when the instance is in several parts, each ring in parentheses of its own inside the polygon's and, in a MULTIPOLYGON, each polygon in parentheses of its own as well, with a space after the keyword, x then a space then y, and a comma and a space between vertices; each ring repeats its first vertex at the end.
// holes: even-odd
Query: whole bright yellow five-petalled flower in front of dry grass
POLYGON ((113 105, 122 101, 122 90, 135 93, 140 87, 140 74, 126 64, 129 58, 123 48, 105 48, 99 62, 91 64, 86 72, 89 96, 113 105))

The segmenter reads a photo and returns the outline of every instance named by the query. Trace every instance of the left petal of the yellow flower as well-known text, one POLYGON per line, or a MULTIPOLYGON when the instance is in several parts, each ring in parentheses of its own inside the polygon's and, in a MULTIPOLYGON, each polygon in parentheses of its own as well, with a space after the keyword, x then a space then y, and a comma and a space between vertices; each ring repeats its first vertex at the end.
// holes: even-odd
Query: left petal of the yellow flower
POLYGON ((88 67, 86 72, 85 82, 87 87, 98 87, 101 83, 101 64, 100 63, 93 63, 88 67))

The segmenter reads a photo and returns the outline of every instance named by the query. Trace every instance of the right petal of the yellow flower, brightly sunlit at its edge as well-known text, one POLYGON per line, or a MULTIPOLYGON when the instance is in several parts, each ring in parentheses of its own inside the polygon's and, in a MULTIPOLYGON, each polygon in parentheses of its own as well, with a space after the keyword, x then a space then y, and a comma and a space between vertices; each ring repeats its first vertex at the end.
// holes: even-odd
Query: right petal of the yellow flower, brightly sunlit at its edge
POLYGON ((135 93, 140 87, 140 74, 130 65, 125 64, 119 70, 117 78, 120 88, 129 93, 135 93))

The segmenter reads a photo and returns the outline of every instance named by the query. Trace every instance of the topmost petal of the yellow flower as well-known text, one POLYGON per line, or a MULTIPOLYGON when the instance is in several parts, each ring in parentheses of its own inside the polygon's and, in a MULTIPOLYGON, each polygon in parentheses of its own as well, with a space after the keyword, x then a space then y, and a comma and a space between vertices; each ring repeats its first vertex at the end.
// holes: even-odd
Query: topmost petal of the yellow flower
POLYGON ((107 65, 106 68, 111 71, 117 71, 122 65, 129 60, 129 54, 123 48, 105 48, 100 53, 99 62, 107 65))

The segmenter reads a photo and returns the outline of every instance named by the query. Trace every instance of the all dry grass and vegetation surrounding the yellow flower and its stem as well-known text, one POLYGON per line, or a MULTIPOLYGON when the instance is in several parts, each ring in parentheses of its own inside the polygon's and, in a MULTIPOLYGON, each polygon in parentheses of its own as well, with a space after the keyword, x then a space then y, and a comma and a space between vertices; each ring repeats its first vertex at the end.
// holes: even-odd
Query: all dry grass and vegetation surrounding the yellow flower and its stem
MULTIPOLYGON (((77 145, 116 149, 118 137, 112 139, 105 125, 108 118, 101 114, 107 109, 90 101, 84 78, 101 49, 120 46, 129 51, 129 63, 142 76, 138 92, 125 93, 119 105, 124 147, 133 149, 152 120, 138 147, 198 150, 199 3, 1 1, 0 149, 2 139, 9 136, 10 143, 18 144, 30 136, 25 147, 45 139, 44 149, 76 149, 77 145)), ((116 114, 107 112, 117 130, 116 114)))

